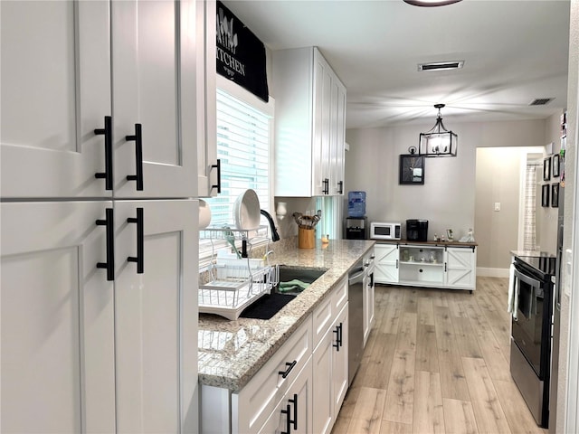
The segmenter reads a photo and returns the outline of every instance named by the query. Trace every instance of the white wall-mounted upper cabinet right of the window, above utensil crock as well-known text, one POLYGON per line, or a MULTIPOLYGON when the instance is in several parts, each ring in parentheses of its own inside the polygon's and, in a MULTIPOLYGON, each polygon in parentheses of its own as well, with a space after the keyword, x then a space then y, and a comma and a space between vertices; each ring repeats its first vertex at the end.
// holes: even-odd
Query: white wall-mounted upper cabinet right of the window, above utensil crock
POLYGON ((316 47, 273 52, 278 196, 339 195, 346 88, 316 47))

